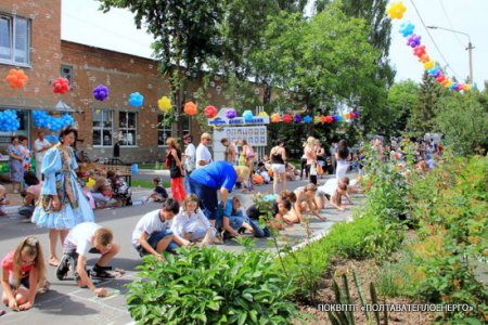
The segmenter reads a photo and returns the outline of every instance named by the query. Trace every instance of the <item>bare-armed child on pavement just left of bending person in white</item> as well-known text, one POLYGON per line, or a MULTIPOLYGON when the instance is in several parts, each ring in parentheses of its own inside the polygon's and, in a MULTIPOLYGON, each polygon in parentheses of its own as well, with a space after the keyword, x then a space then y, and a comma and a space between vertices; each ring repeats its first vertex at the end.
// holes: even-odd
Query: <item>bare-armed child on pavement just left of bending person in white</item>
POLYGON ((316 216, 321 221, 325 221, 326 218, 319 214, 320 208, 316 202, 317 186, 313 183, 309 183, 305 186, 300 186, 295 191, 296 202, 294 205, 293 213, 285 216, 284 220, 288 223, 304 223, 304 213, 308 212, 316 216))

